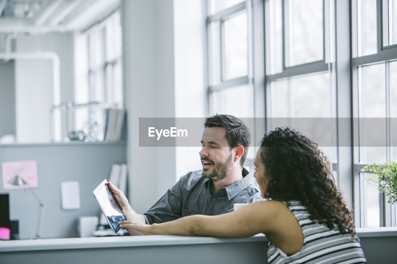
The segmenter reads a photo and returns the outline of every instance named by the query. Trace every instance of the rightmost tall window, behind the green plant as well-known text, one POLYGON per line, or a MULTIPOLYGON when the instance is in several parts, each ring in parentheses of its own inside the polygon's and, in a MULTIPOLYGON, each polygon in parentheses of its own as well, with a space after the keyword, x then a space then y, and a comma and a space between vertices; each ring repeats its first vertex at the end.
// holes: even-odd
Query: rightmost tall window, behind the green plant
POLYGON ((357 227, 396 226, 396 207, 376 186, 364 181, 365 164, 396 159, 392 146, 397 93, 394 0, 352 1, 353 116, 359 144, 354 151, 355 224, 357 227))

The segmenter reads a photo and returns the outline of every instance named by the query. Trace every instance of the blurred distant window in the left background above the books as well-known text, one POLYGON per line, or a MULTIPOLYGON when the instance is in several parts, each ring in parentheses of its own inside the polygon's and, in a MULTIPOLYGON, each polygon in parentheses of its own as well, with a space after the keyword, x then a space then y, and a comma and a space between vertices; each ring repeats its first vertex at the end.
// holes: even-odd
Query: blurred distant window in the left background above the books
MULTIPOLYGON (((120 13, 75 37, 76 85, 73 130, 94 128, 103 140, 106 108, 123 108, 120 13)), ((91 130, 90 130, 91 131, 91 130)))

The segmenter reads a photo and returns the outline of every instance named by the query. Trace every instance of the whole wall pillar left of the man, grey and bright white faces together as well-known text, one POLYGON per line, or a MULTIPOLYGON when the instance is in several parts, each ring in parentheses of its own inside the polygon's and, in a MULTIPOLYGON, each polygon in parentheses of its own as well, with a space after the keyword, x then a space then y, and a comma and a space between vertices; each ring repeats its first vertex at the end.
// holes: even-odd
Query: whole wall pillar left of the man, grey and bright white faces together
POLYGON ((128 111, 129 201, 149 209, 201 168, 195 147, 139 147, 139 117, 205 117, 205 14, 201 0, 124 0, 123 84, 128 111))

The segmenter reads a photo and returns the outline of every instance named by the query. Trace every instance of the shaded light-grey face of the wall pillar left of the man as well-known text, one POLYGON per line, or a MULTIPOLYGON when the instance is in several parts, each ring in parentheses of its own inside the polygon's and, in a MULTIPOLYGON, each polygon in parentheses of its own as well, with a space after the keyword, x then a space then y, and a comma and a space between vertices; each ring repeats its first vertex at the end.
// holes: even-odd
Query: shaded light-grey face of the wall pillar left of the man
POLYGON ((175 148, 139 147, 139 117, 174 117, 172 0, 121 1, 129 202, 139 213, 175 183, 175 148))

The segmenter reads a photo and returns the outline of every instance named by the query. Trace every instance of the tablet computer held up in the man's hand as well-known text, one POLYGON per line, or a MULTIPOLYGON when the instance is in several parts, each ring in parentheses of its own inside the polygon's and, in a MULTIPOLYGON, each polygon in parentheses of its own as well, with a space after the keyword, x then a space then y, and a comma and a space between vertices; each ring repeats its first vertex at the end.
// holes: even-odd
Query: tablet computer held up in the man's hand
POLYGON ((105 179, 101 182, 98 187, 94 189, 94 197, 99 203, 100 209, 108 220, 110 228, 117 234, 120 230, 120 221, 127 220, 119 203, 117 202, 114 194, 109 189, 108 181, 105 179))

